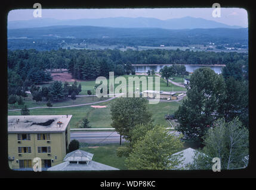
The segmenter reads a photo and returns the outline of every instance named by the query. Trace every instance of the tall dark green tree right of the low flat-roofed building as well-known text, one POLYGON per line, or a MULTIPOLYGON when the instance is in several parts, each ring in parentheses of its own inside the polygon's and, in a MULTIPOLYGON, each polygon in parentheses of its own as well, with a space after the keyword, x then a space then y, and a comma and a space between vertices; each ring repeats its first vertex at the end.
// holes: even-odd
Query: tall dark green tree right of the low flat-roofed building
POLYGON ((177 130, 190 140, 201 140, 205 132, 218 119, 218 110, 226 98, 225 83, 221 75, 210 68, 196 69, 190 78, 187 99, 175 112, 180 125, 177 130))

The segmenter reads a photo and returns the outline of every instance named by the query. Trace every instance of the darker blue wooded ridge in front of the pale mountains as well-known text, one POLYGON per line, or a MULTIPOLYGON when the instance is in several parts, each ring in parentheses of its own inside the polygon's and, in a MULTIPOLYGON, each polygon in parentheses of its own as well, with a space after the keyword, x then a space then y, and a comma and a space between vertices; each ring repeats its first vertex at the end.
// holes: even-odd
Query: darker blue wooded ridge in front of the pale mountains
POLYGON ((166 39, 232 39, 248 40, 248 29, 182 29, 112 28, 94 26, 51 26, 8 30, 8 39, 105 39, 105 38, 166 38, 166 39))

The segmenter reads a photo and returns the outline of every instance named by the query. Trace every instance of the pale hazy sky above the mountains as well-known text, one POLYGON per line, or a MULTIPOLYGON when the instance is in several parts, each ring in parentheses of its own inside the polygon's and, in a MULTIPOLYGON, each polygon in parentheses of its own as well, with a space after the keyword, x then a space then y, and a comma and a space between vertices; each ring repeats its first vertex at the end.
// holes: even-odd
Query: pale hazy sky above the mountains
MULTIPOLYGON (((35 9, 14 9, 8 14, 8 21, 39 19, 33 17, 35 9)), ((221 8, 220 17, 212 17, 214 8, 135 8, 135 9, 44 9, 41 18, 58 20, 107 17, 152 17, 160 20, 195 17, 219 23, 248 27, 248 14, 243 8, 221 8)))

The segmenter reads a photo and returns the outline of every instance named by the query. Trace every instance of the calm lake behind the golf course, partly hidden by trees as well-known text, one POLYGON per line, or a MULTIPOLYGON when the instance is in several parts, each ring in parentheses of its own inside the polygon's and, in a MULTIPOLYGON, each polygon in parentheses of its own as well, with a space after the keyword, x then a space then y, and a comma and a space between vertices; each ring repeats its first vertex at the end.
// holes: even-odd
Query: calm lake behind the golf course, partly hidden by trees
MULTIPOLYGON (((147 72, 148 70, 152 71, 154 69, 155 72, 159 72, 161 68, 163 68, 165 65, 140 65, 140 66, 134 66, 135 72, 147 72)), ((171 66, 171 65, 166 65, 171 66)), ((201 67, 206 67, 205 65, 184 65, 186 66, 186 71, 188 72, 194 72, 196 69, 201 67)), ((208 66, 214 72, 217 74, 221 73, 221 69, 223 66, 208 66)))

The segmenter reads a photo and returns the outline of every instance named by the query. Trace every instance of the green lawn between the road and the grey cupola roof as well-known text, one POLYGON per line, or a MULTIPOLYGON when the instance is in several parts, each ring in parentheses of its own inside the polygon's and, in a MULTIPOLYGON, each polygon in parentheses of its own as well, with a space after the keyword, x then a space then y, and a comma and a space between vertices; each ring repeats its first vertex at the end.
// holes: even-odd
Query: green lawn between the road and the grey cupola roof
POLYGON ((121 170, 127 170, 125 167, 125 157, 116 156, 116 149, 119 144, 104 145, 100 147, 82 147, 81 150, 94 154, 92 160, 108 166, 116 167, 121 170))

